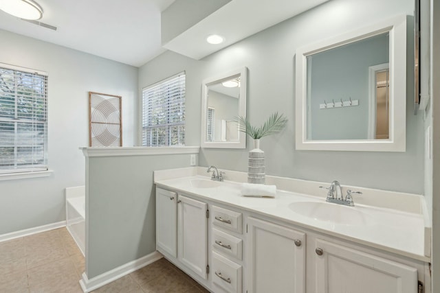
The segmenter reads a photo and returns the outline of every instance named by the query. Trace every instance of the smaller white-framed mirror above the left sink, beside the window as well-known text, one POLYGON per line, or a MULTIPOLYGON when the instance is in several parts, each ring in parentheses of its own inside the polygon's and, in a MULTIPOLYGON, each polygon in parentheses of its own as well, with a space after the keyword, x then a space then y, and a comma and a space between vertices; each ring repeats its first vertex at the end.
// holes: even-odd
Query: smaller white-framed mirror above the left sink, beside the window
POLYGON ((246 148, 235 118, 246 116, 248 69, 243 67, 203 80, 201 147, 246 148))

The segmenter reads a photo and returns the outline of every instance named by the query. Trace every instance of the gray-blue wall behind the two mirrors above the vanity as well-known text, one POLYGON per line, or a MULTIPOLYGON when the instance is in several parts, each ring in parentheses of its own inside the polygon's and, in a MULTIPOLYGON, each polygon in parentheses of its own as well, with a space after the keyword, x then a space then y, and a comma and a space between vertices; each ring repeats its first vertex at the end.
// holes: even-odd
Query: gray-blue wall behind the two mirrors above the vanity
MULTIPOLYGON (((140 68, 140 87, 186 70, 186 144, 200 142, 201 82, 219 73, 248 67, 248 118, 261 125, 278 111, 289 124, 264 137, 266 172, 307 180, 423 194, 423 117, 413 115, 414 86, 407 83, 406 152, 298 151, 294 141, 294 62, 298 47, 398 14, 412 15, 411 0, 332 0, 250 36, 202 60, 167 51, 140 68), (380 7, 380 9, 378 9, 380 7)), ((408 18, 409 21, 412 17, 408 18)), ((408 25, 407 80, 413 80, 412 25, 408 25)), ((247 172, 248 150, 203 149, 199 165, 247 172)))

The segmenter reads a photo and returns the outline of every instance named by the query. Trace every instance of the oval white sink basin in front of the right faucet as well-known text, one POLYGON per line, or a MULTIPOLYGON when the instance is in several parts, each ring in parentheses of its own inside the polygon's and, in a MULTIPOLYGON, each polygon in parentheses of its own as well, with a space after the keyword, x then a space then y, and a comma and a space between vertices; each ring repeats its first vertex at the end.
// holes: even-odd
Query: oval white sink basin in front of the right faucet
POLYGON ((289 209, 298 215, 341 225, 360 226, 368 220, 366 213, 354 207, 329 202, 292 202, 289 209))

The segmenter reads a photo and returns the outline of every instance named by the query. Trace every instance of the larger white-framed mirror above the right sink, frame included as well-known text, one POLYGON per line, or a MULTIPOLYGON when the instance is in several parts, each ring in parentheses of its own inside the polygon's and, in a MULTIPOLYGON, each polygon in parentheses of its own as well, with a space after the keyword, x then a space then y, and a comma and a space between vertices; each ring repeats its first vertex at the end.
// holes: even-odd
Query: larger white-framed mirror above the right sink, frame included
POLYGON ((406 150, 406 16, 296 51, 296 149, 406 150))

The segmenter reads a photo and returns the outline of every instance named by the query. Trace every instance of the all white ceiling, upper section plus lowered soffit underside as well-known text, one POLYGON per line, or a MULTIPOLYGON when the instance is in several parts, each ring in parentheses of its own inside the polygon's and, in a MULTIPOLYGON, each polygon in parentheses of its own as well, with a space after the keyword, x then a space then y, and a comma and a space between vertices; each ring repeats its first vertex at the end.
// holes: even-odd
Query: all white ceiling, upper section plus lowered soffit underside
POLYGON ((0 29, 140 67, 166 49, 203 58, 328 0, 232 0, 162 47, 161 12, 174 1, 36 0, 43 8, 39 21, 58 30, 1 10, 0 29), (206 43, 213 32, 223 34, 226 42, 206 43))

